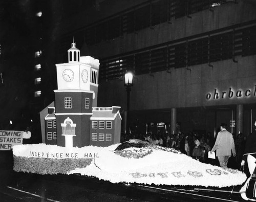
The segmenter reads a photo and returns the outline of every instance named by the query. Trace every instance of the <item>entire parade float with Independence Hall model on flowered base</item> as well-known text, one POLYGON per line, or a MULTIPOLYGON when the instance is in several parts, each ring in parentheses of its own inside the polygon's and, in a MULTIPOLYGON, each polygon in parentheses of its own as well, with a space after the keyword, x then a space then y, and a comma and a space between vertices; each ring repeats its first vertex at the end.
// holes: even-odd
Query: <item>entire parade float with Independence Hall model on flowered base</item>
POLYGON ((55 102, 40 113, 42 143, 13 146, 14 171, 205 187, 246 180, 238 170, 204 164, 172 148, 120 143, 120 107, 97 107, 99 61, 80 57, 74 42, 68 55, 68 63, 56 64, 55 102))

